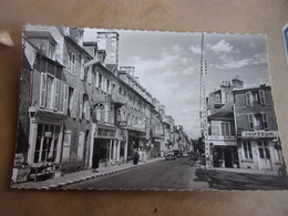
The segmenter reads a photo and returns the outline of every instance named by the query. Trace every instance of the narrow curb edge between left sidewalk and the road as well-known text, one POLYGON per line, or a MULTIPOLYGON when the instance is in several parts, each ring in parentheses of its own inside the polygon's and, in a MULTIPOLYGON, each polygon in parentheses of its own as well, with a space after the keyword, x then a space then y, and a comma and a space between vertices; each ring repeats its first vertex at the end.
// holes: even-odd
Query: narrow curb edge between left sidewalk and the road
MULTIPOLYGON (((155 161, 155 162, 160 162, 160 161, 163 161, 163 160, 158 160, 158 161, 155 161)), ((152 164, 152 163, 155 163, 155 162, 138 164, 138 165, 135 165, 135 166, 133 165, 133 166, 125 167, 125 168, 120 168, 120 169, 115 169, 115 171, 110 171, 110 172, 94 174, 94 175, 90 175, 90 176, 85 176, 85 177, 80 177, 80 178, 76 178, 76 179, 73 179, 73 181, 68 181, 68 182, 64 182, 64 183, 59 183, 59 184, 53 184, 53 185, 50 185, 50 186, 40 187, 39 189, 56 189, 56 188, 61 188, 61 187, 72 185, 72 184, 75 184, 75 183, 84 182, 84 181, 88 181, 88 179, 103 177, 103 176, 112 175, 112 174, 120 173, 120 172, 123 172, 123 171, 137 168, 140 166, 145 166, 145 165, 148 165, 148 164, 152 164)))

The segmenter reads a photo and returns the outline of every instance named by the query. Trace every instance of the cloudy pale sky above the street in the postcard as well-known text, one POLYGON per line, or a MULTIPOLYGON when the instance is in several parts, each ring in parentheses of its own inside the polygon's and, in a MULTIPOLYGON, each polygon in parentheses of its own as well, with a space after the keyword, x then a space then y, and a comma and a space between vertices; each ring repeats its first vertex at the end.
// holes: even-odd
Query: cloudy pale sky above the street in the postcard
MULTIPOLYGON (((119 65, 135 66, 140 83, 166 106, 175 124, 199 137, 202 33, 116 31, 119 65)), ((204 33, 203 44, 207 94, 236 75, 245 88, 269 84, 265 35, 204 33)))

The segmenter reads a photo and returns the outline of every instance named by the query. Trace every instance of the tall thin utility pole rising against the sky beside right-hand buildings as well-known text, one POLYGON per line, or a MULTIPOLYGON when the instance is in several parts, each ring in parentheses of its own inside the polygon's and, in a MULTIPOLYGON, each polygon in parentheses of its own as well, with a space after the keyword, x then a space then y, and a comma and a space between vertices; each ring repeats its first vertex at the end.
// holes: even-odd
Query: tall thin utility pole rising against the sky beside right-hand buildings
POLYGON ((200 54, 200 133, 205 144, 206 167, 210 167, 210 148, 208 142, 208 121, 206 102, 206 75, 207 60, 204 59, 204 33, 202 33, 202 54, 200 54))

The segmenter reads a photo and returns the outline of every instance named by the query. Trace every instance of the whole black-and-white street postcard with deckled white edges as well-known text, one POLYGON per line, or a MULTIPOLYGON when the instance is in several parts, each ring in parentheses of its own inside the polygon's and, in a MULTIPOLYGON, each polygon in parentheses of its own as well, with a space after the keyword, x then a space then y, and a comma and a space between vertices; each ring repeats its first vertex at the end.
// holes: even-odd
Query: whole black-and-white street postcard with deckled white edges
POLYGON ((22 37, 11 187, 288 188, 265 35, 22 37))

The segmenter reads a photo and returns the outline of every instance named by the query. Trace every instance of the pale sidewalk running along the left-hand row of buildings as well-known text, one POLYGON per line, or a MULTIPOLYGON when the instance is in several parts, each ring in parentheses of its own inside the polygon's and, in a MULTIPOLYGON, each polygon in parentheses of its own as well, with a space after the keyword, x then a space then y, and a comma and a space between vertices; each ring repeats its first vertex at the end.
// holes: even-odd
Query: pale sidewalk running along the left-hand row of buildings
POLYGON ((84 169, 84 171, 79 171, 75 173, 68 173, 64 174, 61 177, 54 177, 50 178, 47 181, 41 181, 41 182, 27 182, 27 183, 19 183, 11 185, 12 188, 19 188, 19 189, 31 189, 31 188, 37 188, 37 189, 52 189, 52 188, 60 188, 65 185, 70 185, 73 183, 79 183, 82 181, 95 178, 95 177, 101 177, 105 175, 111 175, 114 173, 119 173, 122 171, 131 169, 131 168, 136 168, 140 166, 145 166, 151 163, 155 163, 158 161, 165 160, 164 157, 157 157, 157 158, 151 158, 147 160, 146 163, 140 162, 138 165, 133 165, 132 162, 121 164, 121 165, 115 165, 115 166, 110 166, 110 167, 100 167, 97 168, 97 172, 92 172, 91 168, 84 169))

